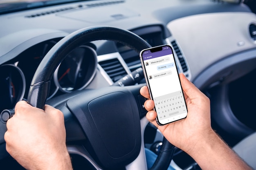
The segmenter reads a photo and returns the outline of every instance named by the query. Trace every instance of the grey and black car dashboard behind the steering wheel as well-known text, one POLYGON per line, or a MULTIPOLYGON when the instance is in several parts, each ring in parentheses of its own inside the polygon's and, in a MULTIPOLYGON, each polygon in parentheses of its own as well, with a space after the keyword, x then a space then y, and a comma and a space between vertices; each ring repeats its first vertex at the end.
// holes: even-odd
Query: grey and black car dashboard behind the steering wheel
MULTIPOLYGON (((256 68, 256 15, 243 3, 89 0, 4 13, 0 23, 0 110, 27 100, 38 65, 58 41, 91 26, 129 30, 151 46, 171 45, 178 71, 209 97, 212 89, 220 90, 256 68)), ((139 55, 129 46, 107 40, 83 44, 54 72, 46 103, 65 93, 111 86, 137 68, 139 55)), ((216 126, 223 134, 236 131, 216 126)), ((232 122, 229 126, 235 127, 232 122)), ((239 128, 243 130, 231 144, 254 131, 247 126, 239 128)))

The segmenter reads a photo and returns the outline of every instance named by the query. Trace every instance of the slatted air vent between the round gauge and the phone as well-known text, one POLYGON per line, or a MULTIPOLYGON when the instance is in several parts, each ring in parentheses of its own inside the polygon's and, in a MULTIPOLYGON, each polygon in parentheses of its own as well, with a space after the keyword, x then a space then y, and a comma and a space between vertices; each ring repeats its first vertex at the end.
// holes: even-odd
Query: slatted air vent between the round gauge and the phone
POLYGON ((99 62, 100 66, 106 71, 113 82, 127 75, 124 67, 117 58, 99 62))

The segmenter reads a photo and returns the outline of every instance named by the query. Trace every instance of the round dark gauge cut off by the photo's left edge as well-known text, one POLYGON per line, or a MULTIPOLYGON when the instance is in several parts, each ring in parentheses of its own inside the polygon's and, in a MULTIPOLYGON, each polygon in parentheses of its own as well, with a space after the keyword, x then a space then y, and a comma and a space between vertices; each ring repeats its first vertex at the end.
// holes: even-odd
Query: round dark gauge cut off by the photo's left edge
POLYGON ((14 64, 0 66, 0 112, 14 108, 24 97, 25 77, 20 68, 14 64))

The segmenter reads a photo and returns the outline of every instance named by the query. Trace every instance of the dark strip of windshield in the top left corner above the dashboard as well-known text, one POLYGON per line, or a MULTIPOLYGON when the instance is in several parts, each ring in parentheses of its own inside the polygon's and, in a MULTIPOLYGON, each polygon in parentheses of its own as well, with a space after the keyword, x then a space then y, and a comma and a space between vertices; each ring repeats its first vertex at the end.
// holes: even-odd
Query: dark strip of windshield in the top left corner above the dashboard
POLYGON ((22 11, 26 9, 78 1, 84 0, 0 0, 0 13, 22 11))

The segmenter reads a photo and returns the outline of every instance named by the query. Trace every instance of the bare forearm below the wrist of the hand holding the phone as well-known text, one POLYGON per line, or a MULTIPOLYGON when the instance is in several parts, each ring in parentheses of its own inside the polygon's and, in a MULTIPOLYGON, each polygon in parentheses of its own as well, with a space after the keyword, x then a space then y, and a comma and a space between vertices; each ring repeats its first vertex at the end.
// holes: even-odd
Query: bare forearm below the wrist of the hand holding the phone
POLYGON ((213 130, 189 155, 203 170, 252 170, 213 130))

